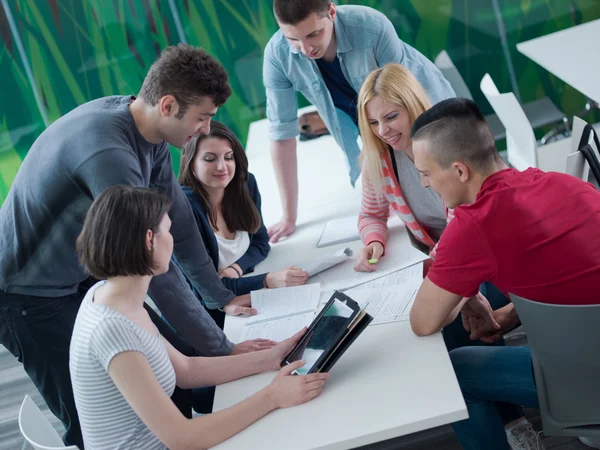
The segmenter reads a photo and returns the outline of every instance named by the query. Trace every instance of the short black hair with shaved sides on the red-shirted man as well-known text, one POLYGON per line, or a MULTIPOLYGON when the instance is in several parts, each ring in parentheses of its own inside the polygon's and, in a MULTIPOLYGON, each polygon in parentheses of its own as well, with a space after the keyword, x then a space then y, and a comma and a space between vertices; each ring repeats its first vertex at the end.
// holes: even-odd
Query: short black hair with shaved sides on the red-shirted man
POLYGON ((436 162, 448 168, 464 161, 485 170, 500 159, 494 136, 477 104, 467 98, 450 98, 434 105, 413 122, 414 141, 429 143, 436 162))

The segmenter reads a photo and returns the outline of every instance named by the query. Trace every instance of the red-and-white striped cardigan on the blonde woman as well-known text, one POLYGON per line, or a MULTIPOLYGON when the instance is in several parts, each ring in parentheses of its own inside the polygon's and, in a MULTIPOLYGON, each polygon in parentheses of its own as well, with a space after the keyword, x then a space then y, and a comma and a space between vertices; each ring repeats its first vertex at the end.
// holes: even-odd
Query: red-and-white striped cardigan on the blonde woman
MULTIPOLYGON (((377 193, 371 183, 363 179, 362 200, 358 216, 358 230, 363 243, 369 245, 372 242, 381 242, 385 247, 388 236, 387 221, 390 216, 390 210, 393 210, 404 222, 412 235, 419 242, 422 242, 431 249, 430 256, 435 258, 434 247, 436 240, 431 237, 428 230, 415 218, 398 184, 396 174, 394 174, 394 166, 388 152, 382 155, 381 165, 383 172, 381 194, 377 193)), ((449 222, 453 217, 453 213, 445 206, 444 209, 446 211, 446 220, 449 222)))

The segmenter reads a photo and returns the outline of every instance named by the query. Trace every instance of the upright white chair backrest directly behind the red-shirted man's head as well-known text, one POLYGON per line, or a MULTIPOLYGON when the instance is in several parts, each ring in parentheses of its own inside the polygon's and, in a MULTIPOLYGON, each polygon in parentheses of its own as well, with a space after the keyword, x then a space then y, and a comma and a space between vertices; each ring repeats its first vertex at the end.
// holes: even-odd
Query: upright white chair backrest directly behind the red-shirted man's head
POLYGON ((512 92, 501 94, 489 74, 479 84, 494 112, 506 128, 508 162, 517 170, 538 167, 537 142, 525 111, 512 92))

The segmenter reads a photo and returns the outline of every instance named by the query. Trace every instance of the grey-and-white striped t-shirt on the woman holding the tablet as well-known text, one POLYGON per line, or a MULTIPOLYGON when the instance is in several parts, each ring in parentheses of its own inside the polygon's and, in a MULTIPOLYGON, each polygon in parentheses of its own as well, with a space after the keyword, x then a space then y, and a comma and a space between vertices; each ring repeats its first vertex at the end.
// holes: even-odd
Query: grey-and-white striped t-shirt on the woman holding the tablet
POLYGON ((71 382, 85 448, 164 450, 115 386, 108 366, 119 353, 140 352, 168 396, 175 390, 175 370, 158 331, 151 335, 116 310, 93 302, 104 283, 95 284, 83 299, 71 338, 71 382))

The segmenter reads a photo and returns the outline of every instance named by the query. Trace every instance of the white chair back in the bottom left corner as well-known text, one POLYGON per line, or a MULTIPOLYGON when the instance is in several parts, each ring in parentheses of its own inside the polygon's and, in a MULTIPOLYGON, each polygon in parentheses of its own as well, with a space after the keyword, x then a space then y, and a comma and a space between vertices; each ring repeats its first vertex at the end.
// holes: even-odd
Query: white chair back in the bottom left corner
POLYGON ((76 445, 65 446, 46 416, 26 395, 19 410, 21 434, 35 450, 79 450, 76 445))

